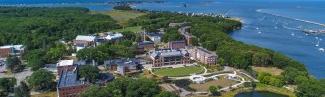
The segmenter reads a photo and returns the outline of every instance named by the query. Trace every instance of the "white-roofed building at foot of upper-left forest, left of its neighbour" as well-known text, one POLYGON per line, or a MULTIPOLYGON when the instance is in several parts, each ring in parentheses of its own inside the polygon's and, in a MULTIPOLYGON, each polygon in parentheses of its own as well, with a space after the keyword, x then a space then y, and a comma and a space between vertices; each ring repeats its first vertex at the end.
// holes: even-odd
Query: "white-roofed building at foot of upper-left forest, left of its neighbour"
POLYGON ((96 36, 78 35, 74 40, 74 46, 76 47, 77 51, 86 47, 95 47, 96 39, 96 36))

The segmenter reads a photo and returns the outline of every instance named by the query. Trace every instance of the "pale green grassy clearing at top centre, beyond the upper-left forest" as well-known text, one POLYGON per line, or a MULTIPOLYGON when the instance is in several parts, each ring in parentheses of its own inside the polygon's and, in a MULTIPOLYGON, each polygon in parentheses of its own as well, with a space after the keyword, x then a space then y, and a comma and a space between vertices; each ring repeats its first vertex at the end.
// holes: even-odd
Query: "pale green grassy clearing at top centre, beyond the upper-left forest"
POLYGON ((126 26, 130 19, 137 18, 139 16, 145 15, 146 13, 138 11, 122 11, 122 10, 112 10, 105 12, 105 14, 111 16, 120 25, 126 26))

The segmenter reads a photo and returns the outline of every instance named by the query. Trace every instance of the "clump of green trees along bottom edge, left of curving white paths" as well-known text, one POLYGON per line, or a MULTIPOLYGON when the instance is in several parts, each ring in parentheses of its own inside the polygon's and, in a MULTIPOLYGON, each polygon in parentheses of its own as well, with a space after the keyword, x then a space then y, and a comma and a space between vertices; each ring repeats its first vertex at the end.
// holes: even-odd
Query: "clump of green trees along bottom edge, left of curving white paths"
POLYGON ((106 87, 91 86, 81 97, 154 97, 160 92, 158 84, 153 80, 118 78, 108 83, 106 87))

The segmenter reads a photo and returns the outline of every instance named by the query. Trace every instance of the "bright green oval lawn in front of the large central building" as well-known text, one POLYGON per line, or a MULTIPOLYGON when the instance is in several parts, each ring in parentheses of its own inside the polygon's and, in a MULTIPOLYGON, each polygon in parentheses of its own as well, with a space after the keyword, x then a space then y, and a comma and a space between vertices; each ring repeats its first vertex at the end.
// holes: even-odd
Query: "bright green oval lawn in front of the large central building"
POLYGON ((203 73, 204 69, 200 66, 180 67, 180 68, 161 68, 154 69, 154 74, 159 76, 180 77, 189 76, 191 74, 203 73))

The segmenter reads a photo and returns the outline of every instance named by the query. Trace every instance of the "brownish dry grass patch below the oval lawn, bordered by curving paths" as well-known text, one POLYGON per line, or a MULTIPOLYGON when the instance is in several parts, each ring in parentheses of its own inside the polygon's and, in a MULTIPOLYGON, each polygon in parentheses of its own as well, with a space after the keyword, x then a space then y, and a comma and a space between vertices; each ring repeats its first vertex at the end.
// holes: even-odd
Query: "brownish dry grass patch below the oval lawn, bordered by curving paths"
POLYGON ((190 87, 195 89, 197 92, 207 92, 210 86, 226 87, 236 83, 237 83, 236 81, 228 80, 223 77, 220 77, 219 80, 210 80, 204 84, 191 84, 190 87))

